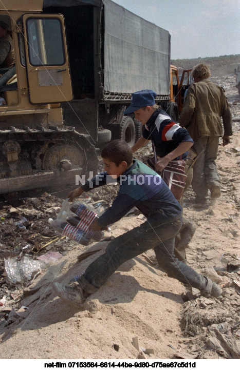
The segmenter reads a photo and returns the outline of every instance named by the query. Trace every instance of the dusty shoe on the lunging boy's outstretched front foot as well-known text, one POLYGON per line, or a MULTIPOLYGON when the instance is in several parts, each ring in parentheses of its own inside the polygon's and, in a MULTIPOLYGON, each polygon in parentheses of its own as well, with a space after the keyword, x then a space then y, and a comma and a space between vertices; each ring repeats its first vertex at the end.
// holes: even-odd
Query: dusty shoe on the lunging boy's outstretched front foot
POLYGON ((78 283, 72 283, 70 285, 64 285, 62 283, 53 283, 53 290, 55 293, 65 302, 80 305, 85 301, 83 297, 83 289, 78 283))

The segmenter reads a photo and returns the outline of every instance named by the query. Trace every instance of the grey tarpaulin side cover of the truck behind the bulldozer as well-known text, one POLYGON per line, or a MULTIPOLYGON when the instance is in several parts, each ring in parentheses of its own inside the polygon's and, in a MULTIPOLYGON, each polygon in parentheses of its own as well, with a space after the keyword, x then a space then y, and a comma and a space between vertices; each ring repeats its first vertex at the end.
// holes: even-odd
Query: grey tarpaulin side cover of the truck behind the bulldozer
POLYGON ((127 93, 152 89, 169 94, 169 32, 110 0, 103 3, 104 89, 127 93))

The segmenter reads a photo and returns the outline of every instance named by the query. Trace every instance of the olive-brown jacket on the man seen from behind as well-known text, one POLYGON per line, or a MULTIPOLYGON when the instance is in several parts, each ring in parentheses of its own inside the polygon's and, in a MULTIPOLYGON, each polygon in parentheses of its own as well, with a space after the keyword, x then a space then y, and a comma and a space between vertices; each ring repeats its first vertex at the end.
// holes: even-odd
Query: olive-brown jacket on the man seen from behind
POLYGON ((221 136, 223 126, 224 134, 232 135, 232 115, 224 89, 209 79, 191 84, 181 111, 180 125, 188 129, 193 140, 202 136, 221 136))

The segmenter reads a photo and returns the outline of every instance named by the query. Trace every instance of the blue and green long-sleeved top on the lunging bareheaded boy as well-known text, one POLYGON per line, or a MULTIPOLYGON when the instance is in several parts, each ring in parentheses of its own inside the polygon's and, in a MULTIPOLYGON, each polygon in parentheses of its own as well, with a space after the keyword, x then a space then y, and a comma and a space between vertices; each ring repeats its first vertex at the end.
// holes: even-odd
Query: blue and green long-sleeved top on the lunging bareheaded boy
MULTIPOLYGON (((101 172, 82 185, 85 191, 109 184, 112 178, 101 172)), ((113 180, 112 180, 113 181, 113 180)), ((114 180, 116 181, 116 180, 114 180)), ((134 160, 118 179, 119 192, 113 202, 98 219, 101 227, 113 224, 137 207, 151 224, 163 220, 175 220, 181 216, 182 208, 161 177, 150 167, 134 160)))

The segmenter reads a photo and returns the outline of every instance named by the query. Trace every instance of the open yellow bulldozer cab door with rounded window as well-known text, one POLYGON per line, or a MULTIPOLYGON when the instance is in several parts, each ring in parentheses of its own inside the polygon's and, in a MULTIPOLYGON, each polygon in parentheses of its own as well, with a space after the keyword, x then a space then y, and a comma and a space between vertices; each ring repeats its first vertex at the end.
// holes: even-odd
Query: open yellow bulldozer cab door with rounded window
POLYGON ((30 103, 72 100, 64 17, 24 14, 22 22, 30 103))

